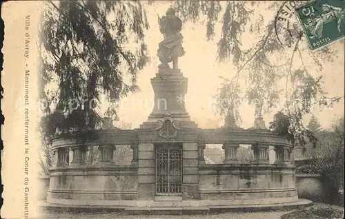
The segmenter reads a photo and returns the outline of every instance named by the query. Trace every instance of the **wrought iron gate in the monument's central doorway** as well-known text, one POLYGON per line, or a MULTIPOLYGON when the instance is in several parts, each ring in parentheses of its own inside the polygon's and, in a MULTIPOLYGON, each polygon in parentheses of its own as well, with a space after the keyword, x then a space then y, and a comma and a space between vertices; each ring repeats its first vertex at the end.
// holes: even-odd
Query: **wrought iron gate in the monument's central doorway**
POLYGON ((182 194, 182 149, 159 147, 156 149, 156 195, 182 194))

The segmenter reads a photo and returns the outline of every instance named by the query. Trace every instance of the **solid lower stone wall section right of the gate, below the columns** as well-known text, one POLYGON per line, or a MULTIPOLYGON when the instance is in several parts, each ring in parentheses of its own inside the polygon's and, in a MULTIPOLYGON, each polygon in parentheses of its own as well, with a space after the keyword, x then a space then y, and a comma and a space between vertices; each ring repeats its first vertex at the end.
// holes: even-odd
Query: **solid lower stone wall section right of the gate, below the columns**
POLYGON ((199 193, 201 205, 222 205, 221 200, 223 205, 255 205, 298 199, 294 169, 279 166, 200 166, 199 193))

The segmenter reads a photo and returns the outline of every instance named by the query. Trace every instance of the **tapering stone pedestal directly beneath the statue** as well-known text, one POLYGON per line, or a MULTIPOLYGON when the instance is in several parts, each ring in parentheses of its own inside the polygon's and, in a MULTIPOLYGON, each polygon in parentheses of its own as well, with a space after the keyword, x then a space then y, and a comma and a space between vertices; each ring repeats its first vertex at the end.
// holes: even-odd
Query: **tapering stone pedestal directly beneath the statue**
POLYGON ((184 104, 187 81, 179 70, 159 70, 155 78, 151 79, 155 92, 155 105, 148 116, 149 122, 157 121, 166 113, 179 121, 190 121, 184 104))

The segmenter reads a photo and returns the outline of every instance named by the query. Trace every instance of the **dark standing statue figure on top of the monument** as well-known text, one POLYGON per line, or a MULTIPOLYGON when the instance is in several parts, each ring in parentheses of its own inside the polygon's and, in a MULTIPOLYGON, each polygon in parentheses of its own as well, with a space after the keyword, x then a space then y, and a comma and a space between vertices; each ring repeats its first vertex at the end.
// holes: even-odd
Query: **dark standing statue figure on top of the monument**
POLYGON ((175 15, 173 8, 168 8, 166 16, 160 18, 158 15, 159 30, 164 36, 163 41, 159 43, 157 56, 161 64, 161 68, 169 68, 168 63, 172 61, 172 69, 177 70, 178 58, 185 54, 182 48, 182 40, 184 37, 180 33, 182 21, 175 15))

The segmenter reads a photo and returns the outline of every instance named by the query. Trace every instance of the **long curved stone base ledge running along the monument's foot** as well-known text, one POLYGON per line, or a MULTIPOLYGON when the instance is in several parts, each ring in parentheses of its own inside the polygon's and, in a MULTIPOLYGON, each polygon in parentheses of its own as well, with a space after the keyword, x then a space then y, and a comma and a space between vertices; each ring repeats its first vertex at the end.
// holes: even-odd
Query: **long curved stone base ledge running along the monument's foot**
MULTIPOLYGON (((216 200, 215 200, 216 201, 216 200)), ((139 204, 139 201, 137 201, 139 204)), ((59 211, 59 212, 124 212, 127 214, 156 214, 156 215, 183 215, 183 214, 212 214, 221 212, 255 212, 255 211, 282 211, 302 209, 313 205, 311 200, 299 198, 297 202, 288 202, 270 205, 213 205, 198 207, 198 201, 184 200, 184 201, 159 201, 159 202, 146 202, 142 207, 125 207, 116 205, 61 205, 52 204, 45 201, 39 202, 39 207, 42 210, 59 211), (150 203, 150 204, 149 204, 150 203), (149 207, 152 205, 152 207, 149 207), (166 207, 168 205, 168 207, 166 207), (175 205, 175 206, 172 206, 175 205)))

